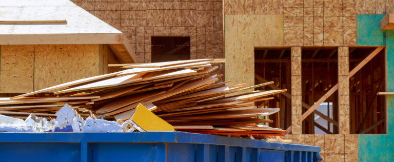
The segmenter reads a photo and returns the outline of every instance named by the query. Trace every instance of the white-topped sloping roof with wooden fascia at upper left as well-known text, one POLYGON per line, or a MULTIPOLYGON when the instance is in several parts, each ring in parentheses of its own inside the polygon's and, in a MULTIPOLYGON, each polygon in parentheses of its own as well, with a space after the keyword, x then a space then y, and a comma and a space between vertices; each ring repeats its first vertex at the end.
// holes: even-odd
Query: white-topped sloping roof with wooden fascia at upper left
POLYGON ((0 45, 109 44, 122 63, 137 62, 121 31, 68 0, 4 1, 0 22, 0 45))

